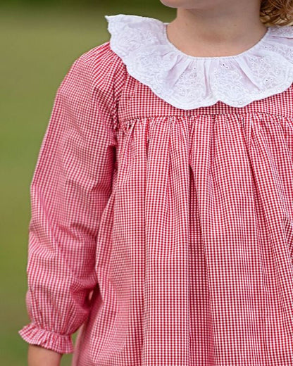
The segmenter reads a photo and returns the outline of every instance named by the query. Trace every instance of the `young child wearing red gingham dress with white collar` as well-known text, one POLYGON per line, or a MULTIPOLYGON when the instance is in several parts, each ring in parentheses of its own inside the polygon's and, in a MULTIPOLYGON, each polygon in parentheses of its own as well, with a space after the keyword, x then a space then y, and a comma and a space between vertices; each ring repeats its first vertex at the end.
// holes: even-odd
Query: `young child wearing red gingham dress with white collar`
POLYGON ((293 1, 106 15, 30 187, 29 365, 293 365, 293 1), (44 361, 45 360, 45 361, 44 361))

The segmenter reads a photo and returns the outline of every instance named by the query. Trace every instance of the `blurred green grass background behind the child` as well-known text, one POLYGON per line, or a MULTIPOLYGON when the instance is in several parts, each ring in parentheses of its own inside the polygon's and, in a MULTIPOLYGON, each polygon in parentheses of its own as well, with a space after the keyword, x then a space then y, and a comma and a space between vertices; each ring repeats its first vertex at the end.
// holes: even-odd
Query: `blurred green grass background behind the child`
MULTIPOLYGON (((116 13, 164 22, 175 18, 175 9, 159 0, 0 3, 1 365, 27 365, 27 343, 18 330, 30 322, 25 308, 30 182, 54 96, 73 61, 108 41, 104 15, 116 13)), ((61 365, 71 360, 71 354, 63 355, 61 365)))

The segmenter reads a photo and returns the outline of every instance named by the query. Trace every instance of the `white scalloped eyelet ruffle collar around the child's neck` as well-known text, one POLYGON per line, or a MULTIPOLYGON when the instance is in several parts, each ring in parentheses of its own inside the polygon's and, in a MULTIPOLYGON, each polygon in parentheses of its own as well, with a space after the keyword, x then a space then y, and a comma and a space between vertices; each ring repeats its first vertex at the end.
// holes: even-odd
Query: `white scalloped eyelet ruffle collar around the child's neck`
POLYGON ((105 15, 111 49, 127 71, 181 109, 223 101, 243 107, 284 92, 293 82, 293 27, 268 27, 262 39, 235 56, 194 57, 177 49, 166 25, 139 15, 105 15))

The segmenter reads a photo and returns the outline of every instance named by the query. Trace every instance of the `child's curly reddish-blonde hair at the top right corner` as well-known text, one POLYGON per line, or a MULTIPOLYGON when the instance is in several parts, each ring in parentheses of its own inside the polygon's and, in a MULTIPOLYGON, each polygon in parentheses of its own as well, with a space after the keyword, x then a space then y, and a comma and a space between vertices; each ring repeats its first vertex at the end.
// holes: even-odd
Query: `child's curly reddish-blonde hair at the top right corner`
POLYGON ((266 25, 293 25, 293 0, 262 0, 261 22, 266 25))

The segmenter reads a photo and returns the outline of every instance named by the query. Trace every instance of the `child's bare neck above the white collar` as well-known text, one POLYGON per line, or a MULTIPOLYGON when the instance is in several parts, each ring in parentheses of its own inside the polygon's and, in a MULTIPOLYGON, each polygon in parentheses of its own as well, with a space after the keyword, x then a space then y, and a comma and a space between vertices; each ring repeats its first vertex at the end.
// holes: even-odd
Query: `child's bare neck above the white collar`
MULTIPOLYGON (((180 51, 195 57, 231 56, 250 49, 267 27, 261 23, 259 9, 251 7, 247 16, 240 12, 242 2, 235 3, 239 3, 239 13, 227 19, 219 13, 213 18, 213 13, 177 8, 177 17, 167 27, 168 39, 180 51)), ((231 15, 231 11, 225 15, 231 15)))

